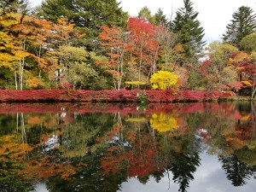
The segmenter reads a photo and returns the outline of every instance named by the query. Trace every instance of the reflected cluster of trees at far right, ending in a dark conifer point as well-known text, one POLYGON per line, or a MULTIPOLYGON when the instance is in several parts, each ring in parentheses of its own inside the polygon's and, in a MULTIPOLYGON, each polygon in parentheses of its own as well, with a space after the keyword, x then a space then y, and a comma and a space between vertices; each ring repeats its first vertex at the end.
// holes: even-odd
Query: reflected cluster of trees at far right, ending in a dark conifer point
POLYGON ((241 186, 255 175, 256 130, 250 103, 237 103, 203 113, 202 126, 211 137, 207 144, 219 155, 227 178, 241 186), (210 117, 210 118, 209 118, 210 117))

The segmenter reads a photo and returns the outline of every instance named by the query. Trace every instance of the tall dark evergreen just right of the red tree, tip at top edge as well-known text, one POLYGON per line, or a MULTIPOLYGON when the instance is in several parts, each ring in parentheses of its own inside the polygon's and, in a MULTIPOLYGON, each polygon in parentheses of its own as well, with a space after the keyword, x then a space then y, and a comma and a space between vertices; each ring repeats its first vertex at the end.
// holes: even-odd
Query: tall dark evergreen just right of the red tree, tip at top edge
POLYGON ((183 0, 183 3, 184 7, 177 10, 176 18, 171 22, 171 29, 178 33, 185 57, 198 59, 197 54, 206 44, 202 40, 204 29, 201 27, 200 21, 196 20, 199 13, 193 9, 193 3, 190 0, 183 0))

